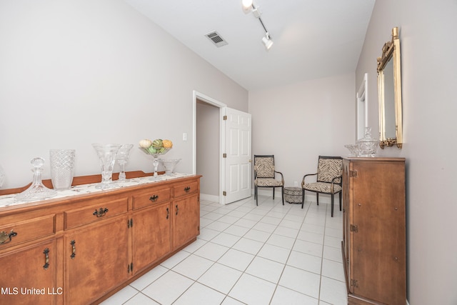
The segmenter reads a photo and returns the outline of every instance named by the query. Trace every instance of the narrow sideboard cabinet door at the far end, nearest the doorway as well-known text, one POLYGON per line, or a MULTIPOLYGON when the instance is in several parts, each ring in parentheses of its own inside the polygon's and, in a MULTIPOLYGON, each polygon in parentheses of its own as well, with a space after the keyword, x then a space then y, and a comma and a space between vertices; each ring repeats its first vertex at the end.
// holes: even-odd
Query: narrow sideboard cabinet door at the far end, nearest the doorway
POLYGON ((173 249, 191 241, 200 230, 199 194, 175 200, 173 211, 173 249))

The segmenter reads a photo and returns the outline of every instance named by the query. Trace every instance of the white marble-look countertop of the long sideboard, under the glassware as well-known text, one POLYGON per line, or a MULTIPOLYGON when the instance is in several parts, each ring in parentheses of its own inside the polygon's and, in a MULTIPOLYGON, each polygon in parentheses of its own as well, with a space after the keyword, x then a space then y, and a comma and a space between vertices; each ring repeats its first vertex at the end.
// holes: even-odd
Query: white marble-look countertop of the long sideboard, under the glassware
MULTIPOLYGON (((173 176, 166 176, 166 175, 159 175, 157 179, 155 180, 153 176, 146 176, 146 177, 140 177, 140 178, 132 178, 132 179, 126 179, 125 181, 113 181, 112 186, 110 189, 121 189, 123 187, 127 186, 138 186, 141 184, 154 184, 157 182, 161 181, 168 181, 168 180, 173 180, 173 179, 178 179, 178 178, 183 178, 187 176, 194 176, 193 174, 179 174, 179 173, 174 173, 173 176)), ((96 185, 99 183, 94 183, 94 184, 81 184, 78 186, 71 186, 71 189, 65 189, 61 191, 56 191, 56 196, 53 196, 52 198, 46 198, 46 199, 59 199, 59 198, 64 198, 64 197, 71 197, 71 196, 77 196, 81 194, 91 194, 91 193, 96 193, 98 191, 106 191, 106 189, 96 189, 96 185)), ((41 201, 40 200, 34 200, 34 201, 41 201)), ((5 206, 16 206, 19 204, 26 204, 34 201, 19 201, 16 199, 16 194, 9 194, 9 195, 3 195, 0 196, 0 208, 5 207, 5 206)))

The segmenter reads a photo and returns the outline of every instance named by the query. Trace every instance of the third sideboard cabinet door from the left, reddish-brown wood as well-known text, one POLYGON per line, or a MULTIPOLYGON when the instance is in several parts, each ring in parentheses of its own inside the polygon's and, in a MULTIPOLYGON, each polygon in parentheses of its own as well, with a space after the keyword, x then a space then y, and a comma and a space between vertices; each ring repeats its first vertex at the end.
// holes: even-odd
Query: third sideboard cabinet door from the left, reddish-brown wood
POLYGON ((134 273, 171 252, 170 204, 136 211, 132 217, 134 273))

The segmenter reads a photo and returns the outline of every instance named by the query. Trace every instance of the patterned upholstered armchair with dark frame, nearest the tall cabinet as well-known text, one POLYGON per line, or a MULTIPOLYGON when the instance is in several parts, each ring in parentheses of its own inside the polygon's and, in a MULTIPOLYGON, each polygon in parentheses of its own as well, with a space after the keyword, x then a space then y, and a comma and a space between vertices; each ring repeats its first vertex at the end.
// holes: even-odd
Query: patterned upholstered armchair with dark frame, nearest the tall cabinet
POLYGON ((316 193, 317 204, 319 204, 319 194, 331 195, 331 216, 333 217, 333 196, 340 196, 341 211, 341 171, 343 169, 343 158, 341 156, 319 156, 316 174, 306 174, 301 181, 301 208, 305 202, 305 191, 316 193), (306 183, 308 176, 317 176, 316 182, 306 183))

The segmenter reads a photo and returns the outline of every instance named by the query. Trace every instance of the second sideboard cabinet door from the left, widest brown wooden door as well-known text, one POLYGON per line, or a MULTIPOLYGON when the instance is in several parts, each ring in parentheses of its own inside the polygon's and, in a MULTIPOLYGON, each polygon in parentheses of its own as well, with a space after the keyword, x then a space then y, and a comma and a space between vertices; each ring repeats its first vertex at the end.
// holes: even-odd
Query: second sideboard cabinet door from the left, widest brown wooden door
POLYGON ((127 219, 116 217, 65 236, 65 304, 90 304, 127 279, 127 219))

